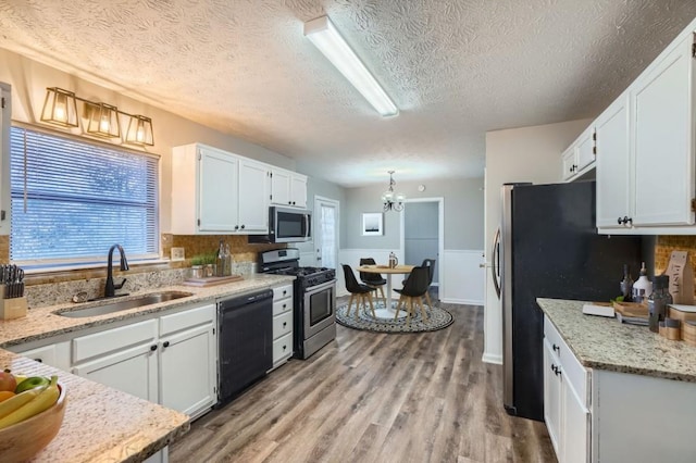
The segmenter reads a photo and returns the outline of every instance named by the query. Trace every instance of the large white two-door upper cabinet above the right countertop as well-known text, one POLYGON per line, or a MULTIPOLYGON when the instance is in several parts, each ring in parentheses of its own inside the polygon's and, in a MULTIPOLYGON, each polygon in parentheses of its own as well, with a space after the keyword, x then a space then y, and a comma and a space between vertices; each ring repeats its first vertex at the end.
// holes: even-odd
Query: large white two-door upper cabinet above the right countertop
POLYGON ((696 21, 593 124, 599 233, 696 233, 695 27, 696 21))

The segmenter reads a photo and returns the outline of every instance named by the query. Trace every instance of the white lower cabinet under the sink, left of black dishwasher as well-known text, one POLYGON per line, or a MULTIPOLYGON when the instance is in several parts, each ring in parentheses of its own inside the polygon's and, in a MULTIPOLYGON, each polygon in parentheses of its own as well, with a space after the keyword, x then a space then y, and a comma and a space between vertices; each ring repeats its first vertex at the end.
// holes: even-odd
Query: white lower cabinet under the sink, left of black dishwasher
POLYGON ((197 417, 216 402, 214 304, 73 339, 78 376, 197 417))

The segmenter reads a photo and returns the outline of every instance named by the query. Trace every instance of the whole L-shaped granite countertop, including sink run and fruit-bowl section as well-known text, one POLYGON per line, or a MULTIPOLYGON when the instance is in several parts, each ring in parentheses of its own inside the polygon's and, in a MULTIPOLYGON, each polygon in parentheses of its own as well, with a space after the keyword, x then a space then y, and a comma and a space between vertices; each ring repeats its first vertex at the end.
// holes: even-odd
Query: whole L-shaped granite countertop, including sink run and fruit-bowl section
MULTIPOLYGON (((294 279, 294 276, 253 274, 239 281, 208 288, 183 285, 153 288, 141 291, 140 295, 172 290, 191 292, 192 296, 83 318, 65 317, 54 312, 91 306, 96 303, 64 303, 29 309, 25 317, 0 321, 0 348, 76 333, 191 303, 214 302, 220 298, 271 288, 291 283, 294 279)), ((123 299, 137 296, 138 293, 133 293, 123 299)), ((51 443, 34 461, 57 461, 58 459, 71 462, 138 462, 169 446, 190 427, 188 415, 3 349, 0 349, 0 366, 28 376, 54 374, 67 388, 63 425, 51 443)))

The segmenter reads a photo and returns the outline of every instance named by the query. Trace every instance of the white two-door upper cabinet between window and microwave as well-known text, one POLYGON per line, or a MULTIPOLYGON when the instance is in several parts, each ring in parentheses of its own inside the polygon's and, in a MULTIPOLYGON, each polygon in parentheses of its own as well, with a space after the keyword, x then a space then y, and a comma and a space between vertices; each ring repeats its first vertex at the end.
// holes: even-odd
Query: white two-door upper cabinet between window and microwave
POLYGON ((270 165, 198 143, 172 158, 173 234, 268 233, 270 165))

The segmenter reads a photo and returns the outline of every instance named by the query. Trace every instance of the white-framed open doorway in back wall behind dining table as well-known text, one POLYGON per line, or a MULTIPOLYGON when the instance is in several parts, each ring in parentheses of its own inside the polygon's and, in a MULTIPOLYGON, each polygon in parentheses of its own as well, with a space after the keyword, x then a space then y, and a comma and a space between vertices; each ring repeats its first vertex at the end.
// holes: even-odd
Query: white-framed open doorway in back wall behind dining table
POLYGON ((405 263, 420 265, 424 259, 435 259, 433 286, 440 286, 439 267, 445 241, 443 210, 444 198, 424 198, 407 200, 401 213, 405 263))

